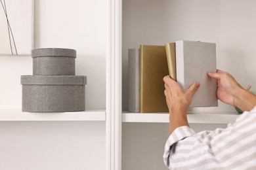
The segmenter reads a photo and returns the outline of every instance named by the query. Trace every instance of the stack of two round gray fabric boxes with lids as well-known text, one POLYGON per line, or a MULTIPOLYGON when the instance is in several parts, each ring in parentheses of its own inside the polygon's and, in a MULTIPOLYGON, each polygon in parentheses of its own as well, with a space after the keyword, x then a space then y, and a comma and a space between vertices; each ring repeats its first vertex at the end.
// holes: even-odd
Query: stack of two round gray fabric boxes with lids
POLYGON ((32 50, 33 75, 21 76, 23 112, 85 110, 86 76, 75 76, 76 51, 32 50))

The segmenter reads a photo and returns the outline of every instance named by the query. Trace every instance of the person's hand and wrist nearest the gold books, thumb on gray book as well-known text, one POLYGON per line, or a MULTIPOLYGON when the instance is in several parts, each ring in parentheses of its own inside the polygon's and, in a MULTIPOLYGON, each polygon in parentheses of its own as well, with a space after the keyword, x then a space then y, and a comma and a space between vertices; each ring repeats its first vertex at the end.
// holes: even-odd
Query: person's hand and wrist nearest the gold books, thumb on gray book
POLYGON ((169 127, 171 134, 177 127, 188 126, 186 112, 200 84, 199 82, 194 82, 190 88, 183 90, 170 76, 163 77, 163 82, 165 82, 164 93, 169 108, 169 127))

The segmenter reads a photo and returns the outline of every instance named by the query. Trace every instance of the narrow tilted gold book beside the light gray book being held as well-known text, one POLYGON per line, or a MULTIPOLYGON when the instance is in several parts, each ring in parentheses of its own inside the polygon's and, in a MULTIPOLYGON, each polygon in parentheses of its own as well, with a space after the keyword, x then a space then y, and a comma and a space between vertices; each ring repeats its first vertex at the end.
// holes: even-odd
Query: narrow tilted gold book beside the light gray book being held
POLYGON ((173 80, 176 81, 176 52, 175 52, 175 42, 169 42, 165 44, 166 57, 169 75, 173 80))

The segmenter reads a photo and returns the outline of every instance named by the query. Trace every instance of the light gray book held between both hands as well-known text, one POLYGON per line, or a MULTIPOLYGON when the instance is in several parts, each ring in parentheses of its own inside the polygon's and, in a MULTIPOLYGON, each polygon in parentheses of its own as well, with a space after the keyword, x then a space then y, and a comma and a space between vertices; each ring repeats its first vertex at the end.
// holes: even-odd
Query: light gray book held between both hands
POLYGON ((207 71, 216 72, 216 44, 200 41, 177 41, 177 82, 187 89, 198 81, 200 88, 194 94, 190 107, 217 107, 217 80, 207 71))

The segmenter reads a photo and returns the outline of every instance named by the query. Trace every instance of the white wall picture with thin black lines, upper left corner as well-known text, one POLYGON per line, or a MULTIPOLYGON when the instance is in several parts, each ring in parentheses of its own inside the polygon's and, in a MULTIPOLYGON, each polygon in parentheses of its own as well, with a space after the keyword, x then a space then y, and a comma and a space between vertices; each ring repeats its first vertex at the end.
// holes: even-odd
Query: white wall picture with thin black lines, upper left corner
POLYGON ((33 0, 1 1, 0 7, 0 56, 29 55, 33 48, 33 0))

